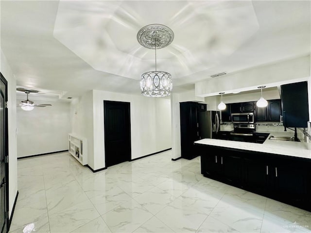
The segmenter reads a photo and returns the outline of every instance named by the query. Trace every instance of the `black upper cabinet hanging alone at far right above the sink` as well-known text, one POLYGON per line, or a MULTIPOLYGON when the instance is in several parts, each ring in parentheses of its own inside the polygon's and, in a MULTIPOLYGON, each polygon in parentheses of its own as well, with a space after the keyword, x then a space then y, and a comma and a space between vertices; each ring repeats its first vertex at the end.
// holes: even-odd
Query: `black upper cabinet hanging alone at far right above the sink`
POLYGON ((281 85, 284 127, 307 128, 309 120, 308 83, 281 85))

